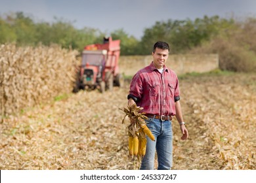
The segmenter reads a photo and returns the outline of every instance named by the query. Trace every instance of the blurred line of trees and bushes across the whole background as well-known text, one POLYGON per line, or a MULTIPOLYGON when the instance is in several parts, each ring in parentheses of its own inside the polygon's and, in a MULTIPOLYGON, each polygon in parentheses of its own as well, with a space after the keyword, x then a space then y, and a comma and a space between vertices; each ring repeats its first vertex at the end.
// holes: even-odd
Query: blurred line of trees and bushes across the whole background
MULTIPOLYGON (((123 29, 112 31, 110 35, 113 39, 121 40, 121 55, 148 55, 154 42, 166 41, 170 44, 171 54, 200 52, 224 56, 227 52, 223 50, 228 50, 234 64, 247 58, 251 64, 249 67, 255 69, 256 65, 256 41, 253 39, 256 35, 256 18, 253 17, 236 20, 204 16, 195 20, 159 21, 152 27, 146 27, 140 40, 123 29), (237 51, 242 52, 242 56, 237 51)), ((15 42, 19 46, 54 43, 81 51, 87 44, 102 42, 104 36, 105 33, 99 29, 76 29, 71 22, 58 18, 50 24, 35 22, 24 12, 0 16, 0 43, 15 42)), ((239 70, 228 66, 224 69, 239 70)))

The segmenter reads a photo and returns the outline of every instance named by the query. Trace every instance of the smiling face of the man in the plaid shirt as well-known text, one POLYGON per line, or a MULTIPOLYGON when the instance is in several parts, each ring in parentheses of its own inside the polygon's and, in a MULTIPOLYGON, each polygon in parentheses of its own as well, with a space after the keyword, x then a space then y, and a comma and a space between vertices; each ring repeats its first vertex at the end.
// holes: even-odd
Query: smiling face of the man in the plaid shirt
POLYGON ((153 53, 153 63, 156 69, 161 69, 163 68, 163 65, 165 64, 165 61, 167 60, 169 55, 168 50, 162 50, 160 48, 156 48, 156 51, 153 53))

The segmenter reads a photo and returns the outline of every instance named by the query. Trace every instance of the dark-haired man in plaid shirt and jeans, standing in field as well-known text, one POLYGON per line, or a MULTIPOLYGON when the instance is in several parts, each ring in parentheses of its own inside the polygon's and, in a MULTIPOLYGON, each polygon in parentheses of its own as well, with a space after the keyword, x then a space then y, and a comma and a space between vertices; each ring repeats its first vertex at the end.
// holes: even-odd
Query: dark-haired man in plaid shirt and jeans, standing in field
POLYGON ((146 155, 140 169, 154 169, 155 152, 158 154, 158 169, 171 169, 173 160, 172 116, 176 116, 182 132, 182 140, 188 139, 188 130, 182 118, 179 80, 171 69, 165 66, 169 55, 169 44, 158 41, 154 44, 153 61, 140 69, 131 81, 128 105, 143 107, 146 124, 156 141, 147 137, 146 155))

